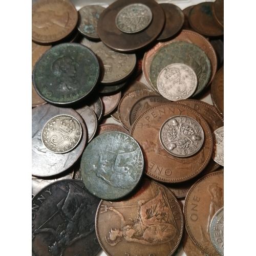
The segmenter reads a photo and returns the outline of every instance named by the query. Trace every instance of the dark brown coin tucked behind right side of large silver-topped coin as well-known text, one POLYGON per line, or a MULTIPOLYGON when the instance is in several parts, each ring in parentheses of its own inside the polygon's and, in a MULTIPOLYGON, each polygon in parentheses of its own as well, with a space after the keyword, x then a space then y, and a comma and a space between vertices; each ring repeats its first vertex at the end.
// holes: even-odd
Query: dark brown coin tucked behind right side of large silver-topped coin
POLYGON ((158 41, 167 40, 175 36, 184 23, 184 14, 177 5, 163 3, 160 6, 164 10, 165 24, 161 34, 157 37, 158 41))

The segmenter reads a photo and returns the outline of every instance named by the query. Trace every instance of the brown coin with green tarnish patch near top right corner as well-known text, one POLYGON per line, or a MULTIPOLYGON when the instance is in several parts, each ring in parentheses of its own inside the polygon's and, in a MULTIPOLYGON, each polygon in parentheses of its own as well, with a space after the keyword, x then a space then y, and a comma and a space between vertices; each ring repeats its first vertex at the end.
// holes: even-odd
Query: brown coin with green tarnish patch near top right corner
POLYGON ((212 2, 195 5, 189 12, 188 22, 198 33, 206 36, 220 36, 224 31, 212 15, 212 2))

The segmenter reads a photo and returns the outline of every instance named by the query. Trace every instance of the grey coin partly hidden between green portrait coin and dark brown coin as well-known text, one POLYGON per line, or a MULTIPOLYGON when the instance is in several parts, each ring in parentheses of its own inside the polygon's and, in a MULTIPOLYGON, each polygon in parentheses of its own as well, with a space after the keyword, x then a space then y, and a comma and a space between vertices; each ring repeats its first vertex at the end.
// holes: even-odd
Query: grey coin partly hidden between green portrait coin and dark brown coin
POLYGON ((98 57, 101 68, 100 82, 104 84, 119 83, 128 78, 136 67, 135 53, 120 53, 98 42, 91 47, 98 57))

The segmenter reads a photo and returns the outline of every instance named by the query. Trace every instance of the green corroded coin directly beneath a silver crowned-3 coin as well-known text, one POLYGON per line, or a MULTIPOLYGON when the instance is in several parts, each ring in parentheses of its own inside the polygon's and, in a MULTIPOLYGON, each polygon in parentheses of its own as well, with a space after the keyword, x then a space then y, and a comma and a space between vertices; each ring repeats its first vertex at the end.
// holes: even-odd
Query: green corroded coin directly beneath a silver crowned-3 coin
POLYGON ((211 74, 210 60, 198 46, 184 41, 171 42, 159 48, 150 64, 150 81, 158 92, 157 78, 168 65, 183 63, 193 69, 197 75, 198 87, 191 97, 200 94, 207 86, 211 74))

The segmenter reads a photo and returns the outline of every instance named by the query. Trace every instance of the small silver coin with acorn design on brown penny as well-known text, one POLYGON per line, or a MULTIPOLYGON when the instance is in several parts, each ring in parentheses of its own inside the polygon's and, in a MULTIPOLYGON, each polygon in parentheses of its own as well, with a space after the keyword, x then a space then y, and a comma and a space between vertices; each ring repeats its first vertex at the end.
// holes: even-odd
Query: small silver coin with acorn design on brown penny
POLYGON ((195 155, 203 145, 201 125, 189 116, 173 116, 161 126, 159 139, 164 150, 176 157, 195 155))

